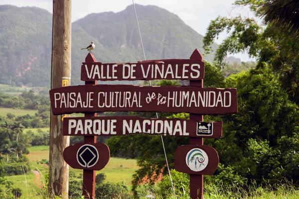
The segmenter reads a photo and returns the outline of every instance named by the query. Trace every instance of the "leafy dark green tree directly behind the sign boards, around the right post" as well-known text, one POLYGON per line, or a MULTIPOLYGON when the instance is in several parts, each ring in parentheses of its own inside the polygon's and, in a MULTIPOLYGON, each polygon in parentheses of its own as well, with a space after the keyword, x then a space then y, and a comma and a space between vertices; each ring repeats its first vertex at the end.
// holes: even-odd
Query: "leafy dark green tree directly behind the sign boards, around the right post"
MULTIPOLYGON (((177 81, 159 81, 157 85, 177 85, 177 81)), ((224 78, 220 69, 205 62, 205 87, 224 87, 224 78)), ((155 117, 153 112, 130 112, 131 115, 155 117)), ((187 113, 158 113, 159 118, 189 118, 187 113)), ((163 137, 169 167, 174 167, 174 151, 180 145, 187 144, 187 137, 163 137)), ((136 135, 111 137, 107 144, 112 155, 137 158, 140 167, 133 177, 133 189, 143 180, 154 183, 159 176, 167 174, 165 156, 160 136, 136 135), (122 146, 122 147, 119 147, 122 146)))

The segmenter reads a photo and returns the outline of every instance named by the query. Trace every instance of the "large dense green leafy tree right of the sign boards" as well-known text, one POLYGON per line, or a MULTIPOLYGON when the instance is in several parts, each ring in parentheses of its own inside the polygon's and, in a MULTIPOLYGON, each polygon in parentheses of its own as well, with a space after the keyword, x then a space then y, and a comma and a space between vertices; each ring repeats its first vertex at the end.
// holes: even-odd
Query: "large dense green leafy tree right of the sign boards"
MULTIPOLYGON (((250 184, 275 184, 287 179, 299 183, 298 105, 288 99, 279 78, 266 64, 249 72, 232 75, 226 87, 238 89, 238 113, 224 115, 223 137, 211 145, 220 154, 225 172, 250 184), (232 156, 232 154, 234 154, 232 156)), ((216 177, 217 178, 217 177, 216 177)))

